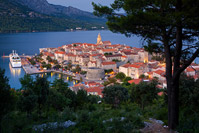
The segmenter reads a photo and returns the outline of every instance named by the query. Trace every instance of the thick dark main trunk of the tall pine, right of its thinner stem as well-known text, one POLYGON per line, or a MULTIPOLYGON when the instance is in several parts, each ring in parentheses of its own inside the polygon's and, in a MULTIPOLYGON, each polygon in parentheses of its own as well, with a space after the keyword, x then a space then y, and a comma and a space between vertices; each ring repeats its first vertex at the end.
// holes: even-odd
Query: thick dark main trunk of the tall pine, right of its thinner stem
MULTIPOLYGON (((179 13, 182 10, 182 0, 176 1, 176 12, 179 13)), ((179 78, 181 72, 180 69, 180 59, 182 52, 182 20, 181 16, 176 17, 176 48, 174 54, 174 68, 172 73, 172 80, 167 82, 169 85, 168 93, 168 123, 170 129, 176 129, 179 124, 179 78)))

